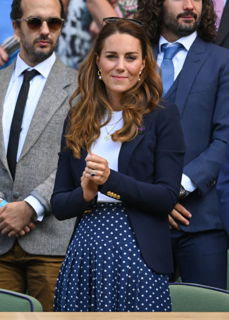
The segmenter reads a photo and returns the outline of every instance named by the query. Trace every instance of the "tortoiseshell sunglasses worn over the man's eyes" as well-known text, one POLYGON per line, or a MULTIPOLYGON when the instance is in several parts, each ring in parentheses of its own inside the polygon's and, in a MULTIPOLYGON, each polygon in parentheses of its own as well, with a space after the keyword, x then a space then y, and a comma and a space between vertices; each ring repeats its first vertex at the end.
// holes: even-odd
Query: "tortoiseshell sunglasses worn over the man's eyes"
POLYGON ((32 31, 37 31, 41 28, 43 21, 47 22, 48 28, 51 31, 57 31, 59 30, 63 23, 64 19, 61 19, 59 17, 51 17, 49 19, 41 19, 39 17, 31 17, 27 19, 16 19, 16 21, 26 21, 27 26, 32 31))

